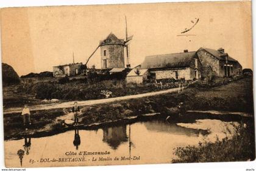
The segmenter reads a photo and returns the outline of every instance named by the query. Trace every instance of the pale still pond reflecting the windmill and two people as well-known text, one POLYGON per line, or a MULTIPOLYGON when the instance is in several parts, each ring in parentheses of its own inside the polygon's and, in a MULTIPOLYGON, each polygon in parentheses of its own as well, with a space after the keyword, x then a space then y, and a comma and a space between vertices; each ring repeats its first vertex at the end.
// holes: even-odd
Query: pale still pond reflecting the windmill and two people
POLYGON ((216 141, 217 136, 230 136, 233 123, 219 119, 175 123, 158 118, 41 138, 25 136, 5 141, 5 164, 41 167, 171 163, 177 158, 176 147, 198 146, 199 142, 216 141), (18 150, 24 150, 21 158, 18 150))

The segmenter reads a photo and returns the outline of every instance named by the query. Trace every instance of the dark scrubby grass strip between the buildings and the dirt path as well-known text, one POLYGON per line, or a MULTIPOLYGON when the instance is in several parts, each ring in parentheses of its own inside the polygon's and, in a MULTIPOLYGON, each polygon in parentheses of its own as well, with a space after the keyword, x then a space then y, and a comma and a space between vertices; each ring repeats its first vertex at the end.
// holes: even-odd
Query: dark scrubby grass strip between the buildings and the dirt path
MULTIPOLYGON (((68 78, 66 78, 68 79, 68 78)), ((62 79, 60 79, 62 80, 62 79)), ((180 81, 172 80, 157 87, 154 83, 127 84, 125 80, 84 82, 83 80, 30 82, 13 85, 4 89, 4 107, 22 107, 44 103, 43 99, 59 99, 61 101, 82 101, 118 96, 137 95, 158 90, 179 87, 180 81)), ((188 82, 184 85, 188 85, 188 82)))

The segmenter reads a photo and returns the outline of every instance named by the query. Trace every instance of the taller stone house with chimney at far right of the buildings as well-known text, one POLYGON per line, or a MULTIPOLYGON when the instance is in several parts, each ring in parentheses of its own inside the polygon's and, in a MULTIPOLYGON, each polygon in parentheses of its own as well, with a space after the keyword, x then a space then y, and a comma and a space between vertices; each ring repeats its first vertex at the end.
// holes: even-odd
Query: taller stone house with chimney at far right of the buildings
POLYGON ((196 53, 202 65, 210 65, 216 76, 229 77, 240 75, 242 72, 241 64, 225 53, 222 48, 213 50, 201 47, 196 53))

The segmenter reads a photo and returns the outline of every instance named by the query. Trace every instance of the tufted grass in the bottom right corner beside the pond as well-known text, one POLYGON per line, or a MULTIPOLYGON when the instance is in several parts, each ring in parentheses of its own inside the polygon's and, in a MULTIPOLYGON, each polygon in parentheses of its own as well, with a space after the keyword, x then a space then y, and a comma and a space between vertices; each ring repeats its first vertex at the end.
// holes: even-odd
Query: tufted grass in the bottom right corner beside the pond
POLYGON ((172 163, 202 163, 225 161, 252 161, 255 159, 254 122, 235 127, 232 138, 215 143, 199 143, 199 146, 177 147, 172 163))

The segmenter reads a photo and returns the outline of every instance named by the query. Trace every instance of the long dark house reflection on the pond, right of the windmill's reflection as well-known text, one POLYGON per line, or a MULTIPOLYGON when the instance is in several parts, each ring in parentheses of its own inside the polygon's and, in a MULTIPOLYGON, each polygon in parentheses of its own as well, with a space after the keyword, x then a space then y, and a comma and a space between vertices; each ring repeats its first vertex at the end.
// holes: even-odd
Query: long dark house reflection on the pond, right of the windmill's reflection
POLYGON ((164 120, 155 120, 151 122, 144 122, 146 129, 155 132, 166 132, 171 133, 172 135, 187 135, 187 136, 196 136, 201 133, 202 135, 207 135, 207 130, 199 129, 188 129, 185 127, 177 126, 176 123, 169 123, 164 120))

